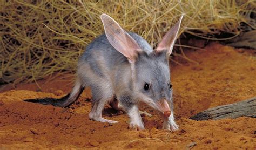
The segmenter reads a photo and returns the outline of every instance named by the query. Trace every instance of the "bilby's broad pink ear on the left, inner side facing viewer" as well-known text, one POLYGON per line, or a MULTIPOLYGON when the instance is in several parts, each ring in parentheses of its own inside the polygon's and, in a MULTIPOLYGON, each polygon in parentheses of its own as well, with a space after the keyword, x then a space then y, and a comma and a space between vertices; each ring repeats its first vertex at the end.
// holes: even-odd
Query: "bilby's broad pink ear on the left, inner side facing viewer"
POLYGON ((113 18, 106 14, 100 16, 105 34, 110 44, 122 53, 130 63, 134 63, 139 52, 142 52, 138 43, 113 18))

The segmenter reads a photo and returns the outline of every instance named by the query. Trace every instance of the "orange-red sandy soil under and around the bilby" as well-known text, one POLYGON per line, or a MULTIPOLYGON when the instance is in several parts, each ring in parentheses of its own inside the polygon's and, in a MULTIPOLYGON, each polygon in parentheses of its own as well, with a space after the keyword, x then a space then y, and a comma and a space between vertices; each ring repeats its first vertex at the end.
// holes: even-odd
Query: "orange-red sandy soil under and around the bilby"
MULTIPOLYGON (((210 107, 256 96, 255 51, 234 50, 217 43, 206 51, 187 51, 198 63, 180 59, 172 66, 174 108, 180 129, 164 131, 161 118, 142 104, 145 131, 128 129, 129 119, 106 106, 104 117, 119 121, 107 124, 91 121, 90 90, 69 108, 25 103, 22 99, 61 97, 72 87, 72 76, 33 84, 2 87, 0 93, 0 148, 98 148, 98 149, 255 149, 256 119, 194 121, 193 114, 210 107), (41 91, 41 92, 35 92, 41 91)), ((177 58, 178 59, 178 58, 177 58)), ((174 64, 174 63, 173 63, 174 64)))

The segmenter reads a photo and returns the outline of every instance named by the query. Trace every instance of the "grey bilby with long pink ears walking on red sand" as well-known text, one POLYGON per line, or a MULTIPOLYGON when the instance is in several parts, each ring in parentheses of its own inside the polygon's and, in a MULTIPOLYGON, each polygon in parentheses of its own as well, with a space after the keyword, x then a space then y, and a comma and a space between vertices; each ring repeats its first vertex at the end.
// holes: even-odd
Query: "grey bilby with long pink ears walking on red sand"
POLYGON ((110 16, 100 16, 105 34, 90 43, 78 60, 77 78, 72 91, 60 99, 25 100, 34 103, 67 107, 76 101, 85 87, 92 92, 89 117, 100 122, 117 123, 102 117, 104 105, 114 97, 130 117, 130 128, 144 129, 138 103, 143 101, 163 116, 163 129, 176 131, 169 56, 176 41, 181 20, 166 33, 153 50, 145 39, 126 32, 110 16))

